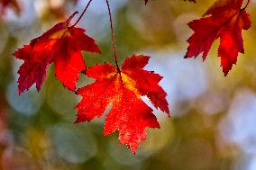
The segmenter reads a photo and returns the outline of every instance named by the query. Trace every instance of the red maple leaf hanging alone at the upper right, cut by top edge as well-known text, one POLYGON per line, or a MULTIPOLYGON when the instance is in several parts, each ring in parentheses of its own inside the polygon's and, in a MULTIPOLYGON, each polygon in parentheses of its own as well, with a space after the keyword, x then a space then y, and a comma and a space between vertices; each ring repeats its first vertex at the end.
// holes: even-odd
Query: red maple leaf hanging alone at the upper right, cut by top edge
POLYGON ((195 32, 187 40, 185 58, 197 58, 203 53, 206 59, 214 40, 220 38, 218 56, 226 76, 236 64, 238 52, 244 53, 242 30, 251 27, 250 15, 245 11, 247 5, 242 8, 242 0, 219 0, 203 18, 189 22, 188 26, 195 32))

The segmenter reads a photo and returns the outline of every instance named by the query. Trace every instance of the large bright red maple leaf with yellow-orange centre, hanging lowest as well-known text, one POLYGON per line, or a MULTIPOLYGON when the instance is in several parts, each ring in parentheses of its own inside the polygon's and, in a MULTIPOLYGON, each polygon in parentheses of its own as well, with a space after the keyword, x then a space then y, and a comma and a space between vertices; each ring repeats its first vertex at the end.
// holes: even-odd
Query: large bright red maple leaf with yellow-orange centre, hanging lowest
POLYGON ((166 93, 158 85, 161 76, 143 69, 150 57, 135 56, 126 58, 120 70, 105 63, 87 69, 87 76, 96 82, 80 88, 83 98, 76 106, 77 123, 91 121, 103 115, 113 103, 105 118, 104 136, 119 130, 121 144, 132 148, 133 153, 146 139, 146 128, 160 128, 151 108, 142 101, 147 96, 156 108, 169 114, 166 93))

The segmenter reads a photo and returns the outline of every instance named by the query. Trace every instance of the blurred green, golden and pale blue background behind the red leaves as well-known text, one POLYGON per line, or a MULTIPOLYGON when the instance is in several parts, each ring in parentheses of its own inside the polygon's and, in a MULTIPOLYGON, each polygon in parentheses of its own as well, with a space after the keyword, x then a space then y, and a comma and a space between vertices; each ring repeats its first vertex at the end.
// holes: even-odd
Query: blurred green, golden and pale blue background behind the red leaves
MULTIPOLYGON (((103 137, 104 118, 73 124, 81 98, 55 79, 54 66, 40 93, 32 86, 19 96, 17 70, 23 62, 14 51, 81 12, 87 0, 18 0, 21 13, 7 9, 0 22, 0 169, 255 170, 256 1, 248 8, 251 29, 242 31, 245 55, 226 77, 217 58, 219 40, 204 63, 183 58, 192 33, 187 22, 213 1, 151 0, 147 6, 143 0, 110 1, 119 62, 134 53, 152 57, 146 69, 164 76, 160 85, 168 93, 170 119, 154 110, 161 129, 148 129, 134 156, 120 146, 117 133, 103 137)), ((102 50, 84 53, 88 67, 114 64, 106 9, 105 0, 94 0, 79 22, 102 50)), ((78 87, 91 82, 81 74, 78 87)))

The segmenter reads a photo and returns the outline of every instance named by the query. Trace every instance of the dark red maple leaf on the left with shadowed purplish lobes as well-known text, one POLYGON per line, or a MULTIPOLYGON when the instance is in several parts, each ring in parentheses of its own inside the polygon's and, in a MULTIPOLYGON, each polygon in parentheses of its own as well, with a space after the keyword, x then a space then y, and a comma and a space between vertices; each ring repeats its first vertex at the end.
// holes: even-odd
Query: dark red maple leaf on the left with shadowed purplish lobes
POLYGON ((55 65, 57 79, 69 90, 75 90, 79 73, 86 69, 81 50, 100 52, 95 40, 88 37, 84 29, 69 27, 75 14, 14 53, 16 58, 24 60, 18 71, 19 94, 34 83, 39 91, 51 62, 55 65))

